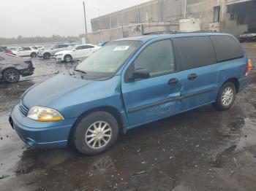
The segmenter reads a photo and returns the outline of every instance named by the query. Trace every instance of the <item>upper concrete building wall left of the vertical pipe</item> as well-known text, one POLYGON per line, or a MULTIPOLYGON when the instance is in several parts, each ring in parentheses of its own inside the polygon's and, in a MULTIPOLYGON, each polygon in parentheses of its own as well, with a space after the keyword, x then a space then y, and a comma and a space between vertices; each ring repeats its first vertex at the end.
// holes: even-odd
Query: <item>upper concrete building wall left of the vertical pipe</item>
POLYGON ((135 23, 160 23, 184 17, 184 0, 154 0, 91 20, 92 31, 135 23))

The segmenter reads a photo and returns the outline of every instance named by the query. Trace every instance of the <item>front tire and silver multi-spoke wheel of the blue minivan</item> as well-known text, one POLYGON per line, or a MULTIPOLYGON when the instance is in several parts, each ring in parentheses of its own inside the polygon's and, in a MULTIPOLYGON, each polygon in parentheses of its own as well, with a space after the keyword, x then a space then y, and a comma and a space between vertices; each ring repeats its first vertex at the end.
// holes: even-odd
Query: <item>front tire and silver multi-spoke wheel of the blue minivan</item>
POLYGON ((75 125, 72 142, 79 152, 85 155, 97 155, 109 149, 116 142, 117 137, 118 122, 115 117, 108 112, 93 112, 75 125))

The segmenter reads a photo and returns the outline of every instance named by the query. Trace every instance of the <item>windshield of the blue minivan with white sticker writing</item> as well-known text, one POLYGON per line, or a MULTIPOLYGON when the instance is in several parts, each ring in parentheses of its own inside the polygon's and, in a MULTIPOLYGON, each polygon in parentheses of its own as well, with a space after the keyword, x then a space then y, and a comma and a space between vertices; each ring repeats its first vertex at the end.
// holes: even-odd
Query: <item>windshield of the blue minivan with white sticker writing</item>
POLYGON ((142 42, 129 40, 109 42, 78 64, 75 70, 94 77, 112 77, 140 44, 142 42))

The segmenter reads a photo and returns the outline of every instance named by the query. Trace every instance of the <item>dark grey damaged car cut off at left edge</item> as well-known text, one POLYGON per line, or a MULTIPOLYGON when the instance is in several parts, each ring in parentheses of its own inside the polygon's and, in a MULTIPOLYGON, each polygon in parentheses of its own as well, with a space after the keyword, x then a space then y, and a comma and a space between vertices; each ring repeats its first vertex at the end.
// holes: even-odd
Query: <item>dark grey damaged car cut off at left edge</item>
POLYGON ((34 67, 31 60, 0 52, 0 79, 15 83, 20 80, 20 76, 26 77, 33 73, 34 67))

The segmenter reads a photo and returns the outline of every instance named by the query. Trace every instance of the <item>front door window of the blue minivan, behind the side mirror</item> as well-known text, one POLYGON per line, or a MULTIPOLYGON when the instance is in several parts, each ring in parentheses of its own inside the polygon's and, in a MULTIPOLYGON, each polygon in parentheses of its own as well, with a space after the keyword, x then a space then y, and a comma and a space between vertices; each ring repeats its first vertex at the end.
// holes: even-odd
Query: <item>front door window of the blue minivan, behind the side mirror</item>
POLYGON ((135 70, 146 69, 151 77, 174 71, 174 54, 170 39, 150 44, 135 59, 134 66, 135 70))

